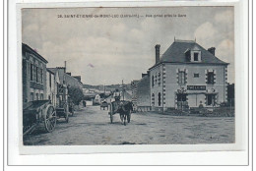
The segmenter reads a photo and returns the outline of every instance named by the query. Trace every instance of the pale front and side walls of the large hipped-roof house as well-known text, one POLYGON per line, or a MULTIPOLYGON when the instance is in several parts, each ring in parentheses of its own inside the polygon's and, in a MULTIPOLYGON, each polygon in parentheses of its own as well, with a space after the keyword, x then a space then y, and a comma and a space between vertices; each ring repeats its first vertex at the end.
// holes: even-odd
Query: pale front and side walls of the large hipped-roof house
POLYGON ((152 107, 166 109, 177 108, 177 94, 186 94, 189 107, 198 107, 200 102, 203 106, 211 107, 227 101, 226 66, 224 65, 181 65, 162 64, 151 71, 151 103, 152 107), (185 72, 184 84, 178 84, 178 71, 185 72), (207 72, 214 72, 215 83, 207 84, 207 72), (198 77, 194 77, 194 75, 198 77), (157 77, 156 77, 157 76, 157 77), (157 78, 157 82, 156 82, 157 78), (190 88, 188 89, 188 86, 190 88), (190 90, 195 88, 193 90, 190 90), (200 87, 200 88, 196 88, 200 87), (208 97, 213 94, 214 101, 209 104, 208 97), (160 99, 160 100, 159 100, 160 99))

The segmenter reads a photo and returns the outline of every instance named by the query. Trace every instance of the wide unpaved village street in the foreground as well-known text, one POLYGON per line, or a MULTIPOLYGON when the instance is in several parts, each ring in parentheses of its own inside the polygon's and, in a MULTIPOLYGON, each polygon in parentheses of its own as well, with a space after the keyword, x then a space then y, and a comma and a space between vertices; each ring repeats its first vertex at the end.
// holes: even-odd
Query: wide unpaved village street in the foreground
POLYGON ((52 133, 35 132, 24 138, 28 145, 167 144, 234 142, 234 117, 169 116, 152 112, 133 113, 121 124, 107 110, 89 106, 76 111, 69 123, 60 119, 52 133))

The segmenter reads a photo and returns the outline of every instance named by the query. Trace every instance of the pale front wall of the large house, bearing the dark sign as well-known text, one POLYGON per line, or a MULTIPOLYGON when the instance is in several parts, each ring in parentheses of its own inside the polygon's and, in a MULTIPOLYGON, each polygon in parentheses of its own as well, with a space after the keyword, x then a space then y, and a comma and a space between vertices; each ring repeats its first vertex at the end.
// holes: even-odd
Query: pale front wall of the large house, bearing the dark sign
MULTIPOLYGON (((206 85, 206 89, 211 90, 214 88, 218 93, 218 103, 226 101, 226 69, 223 65, 206 65, 206 64, 165 64, 166 65, 166 95, 165 95, 165 107, 176 107, 175 106, 175 91, 183 87, 187 89, 187 85, 206 85), (187 84, 178 85, 177 84, 177 72, 178 69, 185 70, 187 72, 187 84), (206 84, 206 71, 214 70, 216 73, 216 84, 207 85, 206 84), (199 74, 199 78, 194 78, 194 73, 199 74)), ((206 90, 187 90, 187 93, 205 93, 206 90)), ((205 106, 205 94, 201 95, 188 95, 188 103, 190 107, 195 107, 199 105, 199 101, 203 102, 205 106), (196 101, 197 96, 197 101, 196 101)))

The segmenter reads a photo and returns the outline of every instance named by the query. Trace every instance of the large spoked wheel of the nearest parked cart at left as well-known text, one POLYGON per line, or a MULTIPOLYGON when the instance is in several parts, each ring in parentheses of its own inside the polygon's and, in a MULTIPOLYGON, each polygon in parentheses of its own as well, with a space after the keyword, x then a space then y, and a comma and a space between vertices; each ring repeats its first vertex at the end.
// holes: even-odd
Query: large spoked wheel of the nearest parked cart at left
POLYGON ((56 126, 56 111, 52 105, 48 105, 45 109, 44 127, 45 131, 50 133, 56 126))

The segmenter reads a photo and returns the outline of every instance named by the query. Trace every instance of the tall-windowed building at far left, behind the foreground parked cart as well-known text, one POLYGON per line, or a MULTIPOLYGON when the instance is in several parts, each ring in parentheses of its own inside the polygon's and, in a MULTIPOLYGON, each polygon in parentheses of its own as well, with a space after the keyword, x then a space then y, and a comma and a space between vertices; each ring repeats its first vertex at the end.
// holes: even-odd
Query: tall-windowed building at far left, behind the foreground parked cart
POLYGON ((23 102, 46 99, 46 64, 29 45, 22 44, 23 102))

